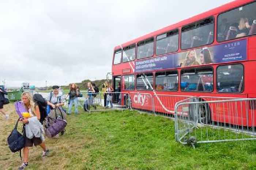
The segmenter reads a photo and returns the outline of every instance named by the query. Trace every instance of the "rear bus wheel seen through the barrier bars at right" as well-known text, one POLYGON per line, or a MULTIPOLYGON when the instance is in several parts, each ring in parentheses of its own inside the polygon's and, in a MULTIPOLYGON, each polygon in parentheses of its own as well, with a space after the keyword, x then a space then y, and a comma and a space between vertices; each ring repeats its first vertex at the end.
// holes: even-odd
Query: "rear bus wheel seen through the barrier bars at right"
POLYGON ((198 105, 199 123, 209 124, 211 122, 211 111, 209 105, 198 105))

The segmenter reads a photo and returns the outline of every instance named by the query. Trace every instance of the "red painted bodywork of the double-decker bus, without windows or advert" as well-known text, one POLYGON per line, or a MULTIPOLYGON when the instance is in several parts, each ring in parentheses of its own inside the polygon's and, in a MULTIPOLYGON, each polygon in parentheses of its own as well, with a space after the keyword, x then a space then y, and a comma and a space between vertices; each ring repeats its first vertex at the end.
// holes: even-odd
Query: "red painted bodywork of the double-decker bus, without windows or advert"
MULTIPOLYGON (((256 35, 251 35, 247 37, 242 37, 242 38, 236 38, 233 40, 229 41, 223 41, 223 42, 218 42, 217 41, 217 21, 218 21, 218 15, 222 14, 223 12, 229 11, 231 9, 240 7, 242 5, 246 5, 249 3, 255 2, 254 0, 236 0, 232 1, 230 3, 227 3, 225 5, 222 5, 221 7, 217 7, 215 9, 212 9, 210 11, 204 12, 202 14, 193 16, 192 18, 183 20, 181 22, 178 22, 176 24, 172 24, 170 26, 167 26, 163 29, 154 31, 152 33, 149 33, 147 35, 144 35, 142 37, 133 39, 132 41, 125 42, 124 44, 118 45, 114 48, 114 54, 117 49, 120 48, 125 48, 129 45, 136 44, 136 52, 137 52, 137 45, 138 42, 143 41, 144 39, 148 39, 151 37, 154 37, 154 55, 152 57, 147 57, 143 59, 137 59, 137 53, 135 54, 135 60, 134 61, 128 61, 125 63, 120 63, 120 64, 114 64, 114 54, 113 54, 113 63, 112 63, 112 75, 113 78, 115 77, 120 77, 121 78, 121 91, 122 92, 139 92, 142 95, 145 94, 151 94, 151 98, 148 97, 148 95, 145 96, 138 96, 138 94, 131 94, 131 99, 132 99, 132 107, 138 108, 138 109, 145 109, 145 110, 152 110, 152 98, 154 98, 154 109, 157 112, 163 112, 167 113, 167 110, 174 110, 174 105, 169 105, 169 108, 164 108, 161 104, 161 101, 157 99, 157 97, 154 97, 155 94, 162 94, 162 95, 186 95, 186 96, 194 96, 194 97, 201 97, 201 96, 209 96, 209 97, 227 97, 227 98, 256 98, 256 90, 255 90, 255 80, 256 76, 253 75, 253 73, 256 72, 256 35), (210 45, 205 45, 205 46, 200 46, 196 48, 189 48, 186 50, 181 49, 181 29, 183 26, 188 25, 189 23, 196 22, 198 20, 202 20, 204 18, 212 16, 214 18, 214 40, 212 44, 210 45), (162 54, 162 55, 156 55, 156 42, 155 39, 158 35, 161 35, 163 33, 166 33, 167 31, 173 30, 173 29, 178 29, 179 30, 179 45, 178 45, 178 50, 173 53, 167 53, 167 54, 162 54), (215 48, 215 46, 220 46, 220 45, 230 45, 232 43, 236 42, 242 42, 244 41, 246 43, 246 59, 245 60, 240 60, 240 61, 230 61, 230 62, 222 62, 222 63, 212 63, 212 64, 205 64, 203 67, 211 67, 213 69, 213 91, 212 92, 200 92, 200 91, 181 91, 181 70, 182 69, 187 69, 187 68, 200 68, 202 65, 194 66, 194 67, 180 67, 180 68, 171 68, 171 69, 154 69, 154 70, 148 70, 148 71, 141 71, 141 72, 136 72, 135 65, 136 62, 138 61, 144 61, 148 59, 154 59, 156 57, 164 57, 170 54, 178 54, 182 52, 187 52, 188 50, 193 50, 193 49, 202 49, 204 47, 208 48, 215 48), (236 93, 230 93, 230 92, 218 92, 217 91, 217 67, 220 65, 227 65, 227 64, 242 64, 244 66, 244 90, 242 92, 236 92, 236 93), (155 73, 159 71, 167 71, 167 70, 177 70, 178 71, 178 90, 177 91, 157 91, 155 89, 155 73), (153 73, 153 82, 154 82, 154 90, 137 90, 136 89, 136 75, 138 73, 153 73), (125 75, 134 75, 135 76, 135 90, 125 90, 122 84, 123 82, 123 76, 125 75)), ((256 9, 255 9, 256 10, 256 9)), ((255 18, 256 19, 256 18, 255 18)), ((113 79, 114 80, 114 79, 113 79)), ((182 97, 180 98, 180 100, 182 97)), ((204 101, 207 101, 207 98, 202 98, 204 101)), ((124 101, 122 101, 123 103, 124 101)), ((245 108, 239 107, 238 110, 244 110, 245 108)), ((251 107, 249 109, 252 109, 251 107)), ((211 120, 215 121, 218 119, 219 122, 225 122, 225 119, 228 120, 227 115, 221 116, 220 118, 218 117, 218 114, 225 114, 227 113, 227 110, 223 110, 222 108, 212 108, 213 113, 211 114, 211 120)), ((170 112, 169 112, 170 113, 170 112)), ((244 112, 240 112, 241 115, 238 115, 238 122, 231 122, 231 124, 238 124, 242 125, 242 122, 246 122, 246 115, 244 112)), ((234 117, 234 116, 233 116, 234 117)), ((252 125, 252 117, 249 117, 249 125, 252 125), (251 120, 250 120, 251 119, 251 120)), ((256 116, 254 116, 254 122, 256 122, 256 116)))

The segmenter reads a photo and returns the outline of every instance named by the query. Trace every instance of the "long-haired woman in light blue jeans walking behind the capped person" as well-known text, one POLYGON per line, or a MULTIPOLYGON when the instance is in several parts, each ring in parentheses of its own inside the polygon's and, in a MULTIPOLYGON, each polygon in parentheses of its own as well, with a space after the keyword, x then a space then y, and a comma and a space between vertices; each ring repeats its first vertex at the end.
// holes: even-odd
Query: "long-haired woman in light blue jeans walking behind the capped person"
POLYGON ((68 114, 71 114, 71 108, 73 103, 75 104, 75 114, 78 114, 78 88, 75 83, 72 83, 70 85, 70 91, 69 91, 69 106, 68 106, 68 114))

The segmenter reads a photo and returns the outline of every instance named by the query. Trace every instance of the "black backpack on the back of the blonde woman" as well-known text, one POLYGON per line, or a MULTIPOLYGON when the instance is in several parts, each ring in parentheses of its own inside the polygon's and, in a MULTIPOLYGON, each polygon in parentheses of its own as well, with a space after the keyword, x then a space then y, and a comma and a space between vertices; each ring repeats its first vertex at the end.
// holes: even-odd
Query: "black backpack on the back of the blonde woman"
POLYGON ((46 116, 47 116, 47 101, 45 98, 42 97, 41 94, 34 94, 33 96, 33 100, 35 103, 37 103, 38 107, 39 107, 39 111, 40 111, 40 122, 41 124, 43 124, 43 121, 45 120, 46 116))

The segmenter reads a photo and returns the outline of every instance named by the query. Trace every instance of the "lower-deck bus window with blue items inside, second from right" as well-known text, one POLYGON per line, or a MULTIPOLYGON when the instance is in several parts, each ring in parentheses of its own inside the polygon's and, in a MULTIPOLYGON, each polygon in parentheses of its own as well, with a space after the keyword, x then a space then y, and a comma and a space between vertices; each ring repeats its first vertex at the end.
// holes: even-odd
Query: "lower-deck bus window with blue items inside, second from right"
POLYGON ((181 91, 213 91, 212 68, 182 70, 181 91))

